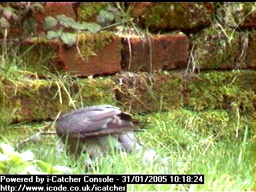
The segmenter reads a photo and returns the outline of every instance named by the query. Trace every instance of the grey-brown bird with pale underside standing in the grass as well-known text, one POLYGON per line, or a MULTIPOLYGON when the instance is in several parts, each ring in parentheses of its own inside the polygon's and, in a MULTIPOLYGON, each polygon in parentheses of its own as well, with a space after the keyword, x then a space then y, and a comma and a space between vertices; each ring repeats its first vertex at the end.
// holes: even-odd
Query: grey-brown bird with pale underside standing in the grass
POLYGON ((88 153, 91 159, 111 149, 127 153, 143 149, 135 134, 140 129, 139 121, 112 105, 73 110, 57 119, 55 129, 68 151, 74 155, 88 153))

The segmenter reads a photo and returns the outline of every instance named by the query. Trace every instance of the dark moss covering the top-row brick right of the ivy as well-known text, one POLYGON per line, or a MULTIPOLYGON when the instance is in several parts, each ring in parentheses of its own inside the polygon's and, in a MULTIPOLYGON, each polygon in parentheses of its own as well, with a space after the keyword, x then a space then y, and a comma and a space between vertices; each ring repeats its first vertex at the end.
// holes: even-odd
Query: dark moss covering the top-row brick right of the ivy
MULTIPOLYGON (((147 9, 141 19, 143 27, 151 31, 188 30, 209 25, 212 16, 203 3, 155 3, 147 9)), ((209 6, 208 6, 209 7, 209 6)))

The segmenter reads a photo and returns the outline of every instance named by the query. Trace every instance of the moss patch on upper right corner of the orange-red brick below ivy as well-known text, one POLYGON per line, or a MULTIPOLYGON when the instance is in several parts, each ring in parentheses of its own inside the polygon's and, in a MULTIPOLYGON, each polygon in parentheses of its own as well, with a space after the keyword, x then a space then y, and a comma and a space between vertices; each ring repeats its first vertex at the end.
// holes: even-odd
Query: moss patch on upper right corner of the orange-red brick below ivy
MULTIPOLYGON (((78 33, 79 49, 85 59, 96 55, 107 43, 113 41, 114 33, 102 31, 101 33, 78 33)), ((80 57, 80 55, 77 55, 80 57)))

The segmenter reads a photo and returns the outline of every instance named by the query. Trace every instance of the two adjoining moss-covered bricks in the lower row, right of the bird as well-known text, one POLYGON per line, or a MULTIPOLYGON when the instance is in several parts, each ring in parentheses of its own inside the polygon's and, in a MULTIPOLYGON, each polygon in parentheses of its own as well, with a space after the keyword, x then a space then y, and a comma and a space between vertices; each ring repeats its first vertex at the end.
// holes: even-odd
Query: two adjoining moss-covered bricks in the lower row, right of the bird
POLYGON ((184 106, 194 111, 225 109, 236 117, 254 110, 255 75, 255 71, 213 71, 193 76, 128 73, 116 77, 116 96, 131 113, 168 111, 184 106))

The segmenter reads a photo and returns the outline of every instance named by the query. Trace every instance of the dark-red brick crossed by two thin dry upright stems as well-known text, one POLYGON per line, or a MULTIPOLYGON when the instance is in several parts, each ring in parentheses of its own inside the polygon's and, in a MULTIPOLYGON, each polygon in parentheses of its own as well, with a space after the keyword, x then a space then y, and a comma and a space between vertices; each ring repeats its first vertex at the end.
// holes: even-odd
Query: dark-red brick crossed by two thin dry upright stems
POLYGON ((151 72, 187 66, 189 40, 183 33, 153 35, 149 39, 131 37, 122 43, 121 65, 125 71, 151 72))

